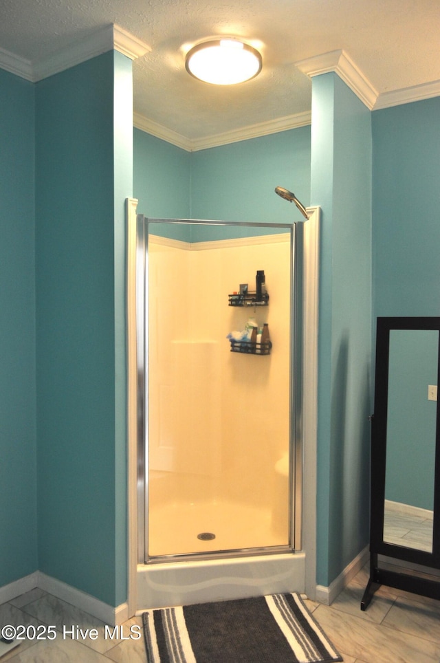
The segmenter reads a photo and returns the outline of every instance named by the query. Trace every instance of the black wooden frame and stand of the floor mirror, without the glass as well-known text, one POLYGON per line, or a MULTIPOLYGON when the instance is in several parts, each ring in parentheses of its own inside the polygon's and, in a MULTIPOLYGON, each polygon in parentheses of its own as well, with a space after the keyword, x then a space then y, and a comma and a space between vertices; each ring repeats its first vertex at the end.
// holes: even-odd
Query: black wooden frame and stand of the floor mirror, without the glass
POLYGON ((377 318, 375 399, 374 414, 371 416, 370 579, 362 598, 362 610, 366 610, 374 592, 380 585, 440 599, 440 574, 436 574, 436 569, 440 569, 440 409, 438 401, 432 553, 384 541, 388 362, 390 333, 393 329, 426 329, 439 332, 439 354, 437 356, 437 384, 439 384, 440 317, 377 318))

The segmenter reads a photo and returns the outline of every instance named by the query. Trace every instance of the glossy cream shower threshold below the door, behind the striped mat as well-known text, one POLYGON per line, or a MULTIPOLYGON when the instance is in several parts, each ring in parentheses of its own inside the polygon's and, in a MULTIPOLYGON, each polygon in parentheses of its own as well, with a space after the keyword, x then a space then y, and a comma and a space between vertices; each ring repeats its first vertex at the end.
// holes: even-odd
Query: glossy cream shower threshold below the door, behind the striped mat
POLYGON ((305 592, 305 552, 137 565, 137 613, 292 591, 305 592))

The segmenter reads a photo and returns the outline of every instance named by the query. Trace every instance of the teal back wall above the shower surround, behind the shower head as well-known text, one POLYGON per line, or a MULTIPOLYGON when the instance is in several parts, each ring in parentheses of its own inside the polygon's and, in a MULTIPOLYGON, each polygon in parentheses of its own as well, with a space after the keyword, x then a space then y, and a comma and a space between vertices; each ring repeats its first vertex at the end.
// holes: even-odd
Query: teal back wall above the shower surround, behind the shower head
MULTIPOLYGON (((276 186, 310 203, 310 127, 290 129, 192 154, 191 218, 292 224, 303 221, 276 186)), ((219 228, 218 239, 225 237, 219 228)), ((273 232, 273 231, 269 231, 273 232)), ((247 235, 230 229, 228 237, 247 235)), ((212 239, 212 232, 210 232, 212 239)), ((203 241, 203 226, 197 241, 203 241)))

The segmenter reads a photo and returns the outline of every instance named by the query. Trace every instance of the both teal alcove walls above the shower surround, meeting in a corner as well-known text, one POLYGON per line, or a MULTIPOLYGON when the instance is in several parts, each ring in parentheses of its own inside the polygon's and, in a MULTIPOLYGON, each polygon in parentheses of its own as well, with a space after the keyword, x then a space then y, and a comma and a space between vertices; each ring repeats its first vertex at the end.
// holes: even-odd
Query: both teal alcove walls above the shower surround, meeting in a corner
MULTIPOLYGON (((293 190, 303 204, 309 204, 310 127, 193 153, 135 129, 134 163, 137 210, 148 217, 262 224, 302 220, 294 204, 274 193, 275 186, 293 190)), ((206 227, 194 230, 191 241, 208 238, 206 227)), ((216 234, 210 226, 209 238, 241 237, 249 232, 218 228, 216 234)), ((183 235, 174 233, 173 237, 188 241, 183 235)))

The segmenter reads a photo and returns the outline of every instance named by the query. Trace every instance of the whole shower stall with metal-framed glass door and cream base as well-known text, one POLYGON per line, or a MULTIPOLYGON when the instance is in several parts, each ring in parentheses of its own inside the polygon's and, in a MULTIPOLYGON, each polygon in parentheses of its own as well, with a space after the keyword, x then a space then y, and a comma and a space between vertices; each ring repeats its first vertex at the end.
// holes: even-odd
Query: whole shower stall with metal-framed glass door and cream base
POLYGON ((304 591, 304 226, 137 215, 137 608, 304 591))

